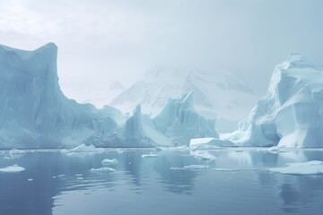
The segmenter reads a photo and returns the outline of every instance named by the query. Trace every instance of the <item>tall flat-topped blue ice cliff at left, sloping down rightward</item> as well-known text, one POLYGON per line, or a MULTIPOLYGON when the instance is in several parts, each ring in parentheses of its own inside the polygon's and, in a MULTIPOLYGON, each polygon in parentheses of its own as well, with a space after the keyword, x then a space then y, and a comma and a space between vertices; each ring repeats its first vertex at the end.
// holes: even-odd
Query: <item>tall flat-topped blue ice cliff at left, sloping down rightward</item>
POLYGON ((73 147, 117 126, 113 108, 65 97, 53 43, 34 51, 0 46, 0 100, 0 148, 73 147))

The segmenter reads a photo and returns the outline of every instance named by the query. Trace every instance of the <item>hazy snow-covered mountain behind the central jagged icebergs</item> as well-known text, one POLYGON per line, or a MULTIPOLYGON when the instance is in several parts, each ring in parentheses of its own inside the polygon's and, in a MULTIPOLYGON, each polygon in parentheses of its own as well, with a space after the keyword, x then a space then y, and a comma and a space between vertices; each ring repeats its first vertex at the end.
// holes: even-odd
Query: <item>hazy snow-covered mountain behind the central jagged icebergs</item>
POLYGON ((124 113, 141 104, 146 114, 157 115, 169 98, 194 91, 196 110, 204 116, 239 120, 248 116, 257 97, 244 82, 229 73, 158 68, 144 75, 109 104, 124 113))

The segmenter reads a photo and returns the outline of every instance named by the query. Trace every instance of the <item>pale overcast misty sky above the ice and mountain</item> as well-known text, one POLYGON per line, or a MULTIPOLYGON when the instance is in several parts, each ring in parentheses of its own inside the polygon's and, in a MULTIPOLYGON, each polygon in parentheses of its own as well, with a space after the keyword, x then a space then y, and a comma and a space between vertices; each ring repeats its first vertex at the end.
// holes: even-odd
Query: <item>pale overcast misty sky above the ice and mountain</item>
POLYGON ((291 52, 323 67, 322 12, 319 0, 0 0, 0 44, 56 43, 60 85, 78 100, 158 66, 233 73, 261 96, 291 52))

